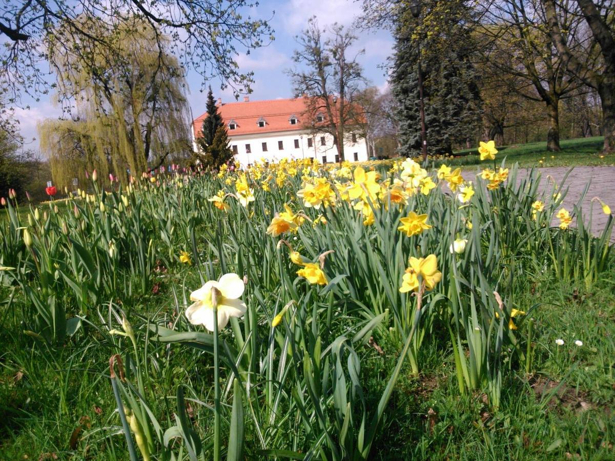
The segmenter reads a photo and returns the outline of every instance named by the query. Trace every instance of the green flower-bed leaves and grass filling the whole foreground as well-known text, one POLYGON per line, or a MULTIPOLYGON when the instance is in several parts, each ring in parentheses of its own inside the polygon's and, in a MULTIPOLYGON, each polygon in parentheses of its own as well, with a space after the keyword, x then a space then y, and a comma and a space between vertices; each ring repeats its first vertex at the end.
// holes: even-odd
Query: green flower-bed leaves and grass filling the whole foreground
MULTIPOLYGON (((173 172, 107 191, 92 183, 86 199, 21 212, 11 202, 0 223, 10 236, 0 247, 10 266, 0 271, 0 411, 9 416, 0 423, 0 454, 360 460, 609 453, 612 219, 599 239, 582 226, 552 229, 563 197, 532 219, 533 200, 553 191, 539 190, 536 170, 517 181, 513 167, 494 191, 479 176, 462 207, 445 186, 402 205, 372 202, 375 220, 364 226, 341 199, 335 207, 304 207, 297 191, 305 166, 274 167, 296 170, 278 187, 264 179, 270 171, 253 167, 246 181, 255 201, 245 208, 229 195, 226 212, 208 198, 234 192, 226 179, 232 184, 236 172, 173 172), (258 187, 263 180, 269 191, 258 187), (285 203, 307 218, 288 234, 294 250, 315 262, 335 250, 323 257, 327 285, 297 277, 287 246, 265 235, 285 203), (432 229, 399 232, 410 210, 426 210, 432 229), (327 224, 310 222, 321 214, 327 224), (468 240, 462 254, 449 250, 457 234, 468 240), (565 274, 551 245, 574 262, 565 274), (193 264, 180 263, 180 250, 193 264), (408 256, 427 253, 437 254, 442 282, 419 296, 400 293, 408 256), (213 334, 188 323, 191 291, 228 272, 247 281, 244 317, 213 334), (526 311, 514 319, 516 330, 509 328, 513 308, 526 311), (555 348, 557 337, 565 348, 555 348), (525 375, 528 350, 536 377, 525 375), (576 395, 594 406, 592 418, 549 404, 555 386, 534 386, 545 374, 565 395, 578 387, 576 395)), ((337 172, 319 174, 343 181, 337 172)), ((580 208, 574 215, 584 218, 580 208)))

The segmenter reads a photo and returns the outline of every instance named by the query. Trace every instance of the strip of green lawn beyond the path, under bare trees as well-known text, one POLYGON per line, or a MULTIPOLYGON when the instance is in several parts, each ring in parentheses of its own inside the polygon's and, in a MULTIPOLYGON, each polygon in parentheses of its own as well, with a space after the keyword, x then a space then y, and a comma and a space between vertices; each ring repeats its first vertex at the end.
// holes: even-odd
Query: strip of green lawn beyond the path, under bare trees
MULTIPOLYGON (((498 161, 506 156, 507 164, 512 165, 518 162, 522 167, 533 167, 534 165, 539 167, 603 167, 615 165, 615 156, 603 156, 600 153, 603 142, 602 136, 563 140, 560 142, 560 152, 547 151, 546 142, 498 146, 498 161)), ((453 160, 437 162, 437 164, 441 163, 456 166, 477 165, 480 164, 480 156, 477 149, 466 149, 455 152, 453 160)))

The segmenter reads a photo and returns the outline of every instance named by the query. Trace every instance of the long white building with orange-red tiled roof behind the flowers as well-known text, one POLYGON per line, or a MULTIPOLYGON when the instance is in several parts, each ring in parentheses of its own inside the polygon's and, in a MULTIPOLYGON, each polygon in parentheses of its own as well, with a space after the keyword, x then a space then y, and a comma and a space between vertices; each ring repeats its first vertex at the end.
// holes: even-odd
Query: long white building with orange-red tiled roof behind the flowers
MULTIPOLYGON (((338 162, 338 149, 333 136, 314 133, 309 116, 307 98, 276 99, 222 103, 218 99, 218 112, 222 116, 229 136, 229 144, 242 167, 257 161, 279 162, 282 159, 317 159, 322 163, 338 162)), ((194 139, 201 136, 207 112, 192 122, 194 139)), ((196 149, 196 142, 194 143, 196 149)), ((350 162, 368 159, 367 142, 351 132, 344 143, 344 157, 350 162)))

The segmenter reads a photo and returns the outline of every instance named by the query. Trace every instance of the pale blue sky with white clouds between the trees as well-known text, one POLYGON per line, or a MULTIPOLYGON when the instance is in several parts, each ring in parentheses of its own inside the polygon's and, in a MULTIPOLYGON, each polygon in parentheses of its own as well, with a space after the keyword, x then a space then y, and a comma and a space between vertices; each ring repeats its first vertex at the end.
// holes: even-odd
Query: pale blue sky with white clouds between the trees
MULTIPOLYGON (((361 10, 361 2, 352 0, 265 0, 260 1, 253 17, 271 19, 270 25, 274 29, 276 39, 268 46, 251 50, 250 55, 245 50, 238 49, 239 56, 236 61, 240 71, 253 71, 255 83, 250 94, 251 101, 268 100, 293 97, 292 82, 284 73, 285 69, 292 68, 293 50, 298 46, 295 36, 300 34, 308 25, 308 18, 315 15, 322 27, 338 24, 352 27, 352 22, 361 10), (275 12, 275 14, 274 14, 275 12)), ((358 39, 355 49, 365 49, 365 54, 358 60, 363 66, 363 74, 370 81, 383 89, 386 87, 386 76, 381 65, 386 63, 387 57, 392 53, 393 39, 386 30, 355 31, 358 39)), ((186 76, 189 86, 189 101, 194 118, 205 112, 207 92, 201 92, 203 79, 196 72, 189 70, 186 76)), ((205 82, 211 84, 214 97, 221 97, 223 102, 233 102, 232 89, 220 90, 220 81, 205 82)), ((15 116, 20 120, 20 130, 25 140, 25 148, 39 151, 36 124, 47 117, 57 118, 61 115, 59 108, 52 103, 52 95, 42 96, 37 103, 25 101, 30 108, 15 108, 15 116)), ((241 100, 241 99, 240 99, 241 100)))

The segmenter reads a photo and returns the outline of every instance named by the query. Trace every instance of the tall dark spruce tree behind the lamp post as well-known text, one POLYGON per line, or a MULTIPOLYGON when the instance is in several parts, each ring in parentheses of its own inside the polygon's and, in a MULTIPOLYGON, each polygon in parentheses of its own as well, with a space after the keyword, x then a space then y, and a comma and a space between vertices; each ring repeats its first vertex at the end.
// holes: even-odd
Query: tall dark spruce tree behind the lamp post
POLYGON ((459 25, 467 14, 464 2, 423 4, 422 25, 408 12, 395 31, 391 86, 398 102, 399 150, 404 156, 421 151, 419 46, 429 153, 450 154, 453 146, 474 140, 480 128, 478 77, 470 60, 474 47, 459 25), (440 33, 430 33, 434 30, 440 33))

